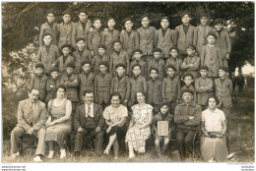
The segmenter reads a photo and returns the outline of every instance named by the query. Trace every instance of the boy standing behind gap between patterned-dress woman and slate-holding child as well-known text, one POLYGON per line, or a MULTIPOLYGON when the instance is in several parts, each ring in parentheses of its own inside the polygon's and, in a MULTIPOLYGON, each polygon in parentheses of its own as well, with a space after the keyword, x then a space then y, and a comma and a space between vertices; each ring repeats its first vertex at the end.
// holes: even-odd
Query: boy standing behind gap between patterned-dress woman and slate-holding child
POLYGON ((147 82, 147 89, 148 103, 154 107, 154 114, 157 114, 160 112, 161 102, 161 82, 159 80, 159 70, 157 68, 152 68, 150 71, 150 80, 147 82))

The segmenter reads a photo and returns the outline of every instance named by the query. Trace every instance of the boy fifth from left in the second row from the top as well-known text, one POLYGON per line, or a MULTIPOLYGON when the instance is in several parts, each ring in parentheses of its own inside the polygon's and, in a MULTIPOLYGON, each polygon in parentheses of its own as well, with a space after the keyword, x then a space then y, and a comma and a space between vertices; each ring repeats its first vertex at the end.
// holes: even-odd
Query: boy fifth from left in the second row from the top
POLYGON ((127 68, 126 74, 129 75, 130 61, 126 51, 122 50, 122 43, 119 39, 113 41, 114 52, 110 55, 109 73, 112 77, 116 76, 116 65, 123 63, 127 68))

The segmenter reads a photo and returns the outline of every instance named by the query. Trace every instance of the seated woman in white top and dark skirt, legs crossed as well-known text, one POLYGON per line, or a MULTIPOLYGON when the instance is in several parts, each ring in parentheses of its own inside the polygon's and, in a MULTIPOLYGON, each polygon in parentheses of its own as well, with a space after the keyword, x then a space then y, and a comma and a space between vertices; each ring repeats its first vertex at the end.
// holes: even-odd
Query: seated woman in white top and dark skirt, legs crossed
POLYGON ((127 131, 126 118, 128 110, 121 103, 122 97, 119 92, 113 92, 110 96, 111 105, 106 107, 103 112, 105 124, 108 126, 106 134, 109 135, 109 142, 104 150, 104 154, 108 155, 113 145, 114 159, 118 158, 119 143, 125 138, 127 131))

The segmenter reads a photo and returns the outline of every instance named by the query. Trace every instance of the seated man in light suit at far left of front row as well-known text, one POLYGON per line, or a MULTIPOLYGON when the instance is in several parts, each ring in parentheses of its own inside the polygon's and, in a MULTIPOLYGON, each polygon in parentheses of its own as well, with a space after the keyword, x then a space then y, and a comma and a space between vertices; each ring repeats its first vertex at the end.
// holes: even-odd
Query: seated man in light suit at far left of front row
POLYGON ((20 156, 19 142, 25 134, 35 134, 38 143, 33 161, 40 162, 45 150, 45 104, 38 100, 39 90, 32 89, 29 92, 29 98, 19 102, 18 124, 11 134, 11 155, 12 158, 20 156))

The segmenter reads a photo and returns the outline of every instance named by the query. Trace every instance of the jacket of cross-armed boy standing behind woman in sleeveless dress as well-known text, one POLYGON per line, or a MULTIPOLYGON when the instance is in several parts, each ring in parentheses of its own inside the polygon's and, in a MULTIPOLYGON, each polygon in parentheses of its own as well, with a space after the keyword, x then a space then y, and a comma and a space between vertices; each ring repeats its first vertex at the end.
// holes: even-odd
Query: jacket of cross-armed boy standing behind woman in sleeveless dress
POLYGON ((66 96, 70 101, 79 101, 78 99, 78 85, 79 85, 79 78, 78 75, 72 74, 71 77, 68 77, 67 72, 65 72, 60 81, 61 85, 65 85, 66 90, 66 96))

